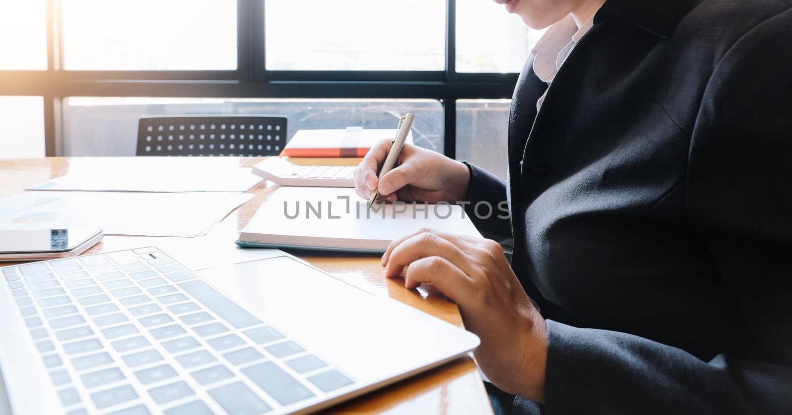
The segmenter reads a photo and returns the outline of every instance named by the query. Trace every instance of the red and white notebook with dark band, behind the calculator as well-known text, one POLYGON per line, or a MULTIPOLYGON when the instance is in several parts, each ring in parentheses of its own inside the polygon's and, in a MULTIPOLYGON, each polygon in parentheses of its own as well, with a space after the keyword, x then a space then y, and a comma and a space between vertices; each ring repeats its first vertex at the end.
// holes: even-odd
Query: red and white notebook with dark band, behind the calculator
MULTIPOLYGON (((394 139, 395 129, 299 130, 284 147, 289 157, 363 157, 371 146, 382 139, 394 139)), ((413 143, 413 132, 407 135, 413 143)))

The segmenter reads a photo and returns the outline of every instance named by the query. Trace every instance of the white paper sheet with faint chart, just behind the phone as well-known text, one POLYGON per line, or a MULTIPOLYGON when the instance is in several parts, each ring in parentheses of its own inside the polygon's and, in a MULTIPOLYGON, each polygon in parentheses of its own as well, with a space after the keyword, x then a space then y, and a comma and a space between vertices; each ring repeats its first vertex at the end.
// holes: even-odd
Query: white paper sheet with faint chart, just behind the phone
POLYGON ((0 199, 0 229, 98 227, 105 234, 194 237, 252 198, 235 193, 25 192, 0 199))

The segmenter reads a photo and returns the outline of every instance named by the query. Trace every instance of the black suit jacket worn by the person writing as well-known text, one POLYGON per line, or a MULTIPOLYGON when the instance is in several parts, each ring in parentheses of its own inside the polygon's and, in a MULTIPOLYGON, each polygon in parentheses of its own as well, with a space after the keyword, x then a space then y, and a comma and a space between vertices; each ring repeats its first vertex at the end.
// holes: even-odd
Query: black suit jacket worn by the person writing
POLYGON ((527 62, 469 196, 510 199, 544 413, 792 413, 790 4, 608 0, 539 113, 527 62))

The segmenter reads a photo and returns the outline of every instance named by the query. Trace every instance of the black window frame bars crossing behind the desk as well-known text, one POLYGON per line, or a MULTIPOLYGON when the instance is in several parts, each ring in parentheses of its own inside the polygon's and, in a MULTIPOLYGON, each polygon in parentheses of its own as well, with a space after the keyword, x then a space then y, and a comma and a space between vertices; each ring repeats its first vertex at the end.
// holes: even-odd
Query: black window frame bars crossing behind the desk
POLYGON ((236 70, 61 70, 59 0, 47 0, 47 70, 0 70, 0 96, 44 97, 44 145, 59 155, 65 97, 435 99, 444 154, 456 154, 456 101, 512 96, 518 74, 456 72, 456 0, 446 0, 444 70, 267 70, 265 0, 237 0, 236 70))

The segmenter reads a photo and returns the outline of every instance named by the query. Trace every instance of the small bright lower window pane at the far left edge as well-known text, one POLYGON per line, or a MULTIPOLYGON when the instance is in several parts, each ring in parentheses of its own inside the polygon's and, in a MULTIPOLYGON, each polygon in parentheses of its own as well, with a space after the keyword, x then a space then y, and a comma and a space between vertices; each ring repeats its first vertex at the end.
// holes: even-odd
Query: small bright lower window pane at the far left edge
POLYGON ((44 156, 44 98, 0 97, 0 158, 44 156))

